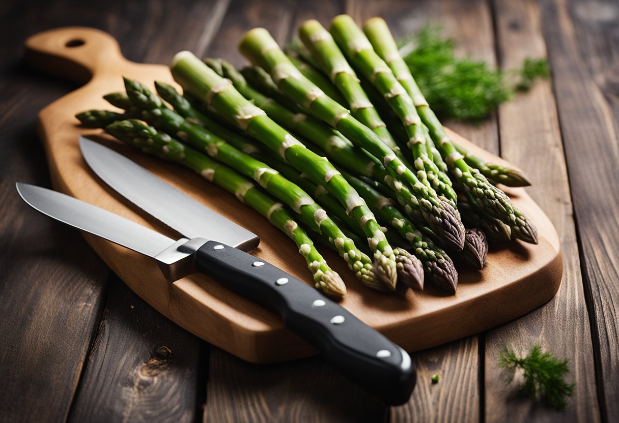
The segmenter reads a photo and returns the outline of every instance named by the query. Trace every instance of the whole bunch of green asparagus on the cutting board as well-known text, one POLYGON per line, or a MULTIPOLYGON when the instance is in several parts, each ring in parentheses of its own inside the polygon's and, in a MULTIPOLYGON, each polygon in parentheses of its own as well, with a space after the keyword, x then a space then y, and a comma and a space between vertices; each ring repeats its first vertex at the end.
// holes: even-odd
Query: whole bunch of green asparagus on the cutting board
POLYGON ((235 194, 293 239, 316 288, 334 297, 344 282, 313 240, 361 283, 400 294, 425 281, 455 293, 446 250, 481 269, 487 239, 537 243, 496 187, 526 176, 449 138, 384 20, 361 30, 340 15, 328 31, 308 20, 299 36, 303 46, 284 53, 263 28, 249 31, 243 70, 183 51, 170 65, 182 94, 125 79, 126 93, 105 96, 123 113, 77 118, 235 194))

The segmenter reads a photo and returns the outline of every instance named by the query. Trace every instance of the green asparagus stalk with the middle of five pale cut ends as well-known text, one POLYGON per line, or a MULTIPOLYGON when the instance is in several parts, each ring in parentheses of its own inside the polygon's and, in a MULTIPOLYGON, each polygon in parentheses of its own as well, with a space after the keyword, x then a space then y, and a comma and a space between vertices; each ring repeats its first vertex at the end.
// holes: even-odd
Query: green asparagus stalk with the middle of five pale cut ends
MULTIPOLYGON (((350 107, 352 115, 365 126, 370 127, 392 150, 396 148, 394 151, 397 151, 397 145, 389 134, 383 119, 361 88, 357 74, 348 65, 331 34, 313 19, 303 22, 298 32, 301 41, 311 52, 322 72, 331 77, 331 82, 344 95, 345 105, 350 107)), ((295 62, 293 64, 297 65, 295 62)), ((299 70, 303 73, 302 69, 299 68, 299 70)))

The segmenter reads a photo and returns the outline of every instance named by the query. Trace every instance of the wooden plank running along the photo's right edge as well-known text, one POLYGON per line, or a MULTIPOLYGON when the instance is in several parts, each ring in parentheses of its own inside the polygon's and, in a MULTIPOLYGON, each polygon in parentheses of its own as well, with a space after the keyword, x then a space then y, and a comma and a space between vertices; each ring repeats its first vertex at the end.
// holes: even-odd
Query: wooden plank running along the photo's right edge
POLYGON ((542 1, 602 418, 619 414, 619 4, 542 1))

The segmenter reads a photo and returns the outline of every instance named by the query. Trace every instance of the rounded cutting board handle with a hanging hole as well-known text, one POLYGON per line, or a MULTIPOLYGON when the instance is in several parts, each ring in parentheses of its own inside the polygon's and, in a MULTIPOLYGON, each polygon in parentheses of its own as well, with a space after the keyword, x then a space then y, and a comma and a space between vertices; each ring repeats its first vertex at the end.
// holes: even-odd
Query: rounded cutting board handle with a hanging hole
POLYGON ((113 36, 87 27, 56 28, 30 36, 26 59, 35 69, 78 83, 113 72, 126 62, 113 36))

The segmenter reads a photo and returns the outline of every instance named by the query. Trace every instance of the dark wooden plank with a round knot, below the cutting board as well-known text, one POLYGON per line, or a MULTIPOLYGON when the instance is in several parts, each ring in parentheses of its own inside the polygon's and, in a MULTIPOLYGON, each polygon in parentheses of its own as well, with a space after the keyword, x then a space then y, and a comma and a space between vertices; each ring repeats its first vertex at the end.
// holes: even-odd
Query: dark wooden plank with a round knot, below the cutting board
POLYGON ((193 422, 201 344, 112 275, 69 421, 193 422))

